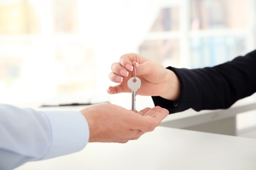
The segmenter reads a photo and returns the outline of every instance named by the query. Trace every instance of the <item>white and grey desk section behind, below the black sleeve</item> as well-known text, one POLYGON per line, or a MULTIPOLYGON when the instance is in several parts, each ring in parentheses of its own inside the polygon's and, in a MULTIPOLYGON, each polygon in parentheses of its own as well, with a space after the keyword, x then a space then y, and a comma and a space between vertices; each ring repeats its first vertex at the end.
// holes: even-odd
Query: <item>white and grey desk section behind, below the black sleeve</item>
POLYGON ((192 109, 170 114, 160 126, 190 129, 224 135, 236 135, 236 115, 256 110, 256 102, 238 101, 229 109, 202 110, 192 109))

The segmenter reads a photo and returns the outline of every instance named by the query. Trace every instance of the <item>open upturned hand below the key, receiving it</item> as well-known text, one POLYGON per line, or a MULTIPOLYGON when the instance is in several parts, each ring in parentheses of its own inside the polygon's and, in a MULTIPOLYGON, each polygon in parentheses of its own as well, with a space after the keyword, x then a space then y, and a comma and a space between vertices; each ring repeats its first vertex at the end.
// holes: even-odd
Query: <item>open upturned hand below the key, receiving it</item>
POLYGON ((92 105, 80 112, 89 124, 90 143, 127 143, 139 139, 144 133, 153 131, 169 114, 161 107, 134 112, 110 103, 92 105))

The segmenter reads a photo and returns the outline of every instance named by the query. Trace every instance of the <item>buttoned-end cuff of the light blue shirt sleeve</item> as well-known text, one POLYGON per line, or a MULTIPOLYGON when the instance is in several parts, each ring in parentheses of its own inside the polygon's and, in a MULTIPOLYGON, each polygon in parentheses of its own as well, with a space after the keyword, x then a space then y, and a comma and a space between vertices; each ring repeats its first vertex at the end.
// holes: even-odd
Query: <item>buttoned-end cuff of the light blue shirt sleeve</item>
POLYGON ((52 145, 43 160, 72 154, 89 142, 87 120, 78 111, 43 111, 51 126, 52 145))

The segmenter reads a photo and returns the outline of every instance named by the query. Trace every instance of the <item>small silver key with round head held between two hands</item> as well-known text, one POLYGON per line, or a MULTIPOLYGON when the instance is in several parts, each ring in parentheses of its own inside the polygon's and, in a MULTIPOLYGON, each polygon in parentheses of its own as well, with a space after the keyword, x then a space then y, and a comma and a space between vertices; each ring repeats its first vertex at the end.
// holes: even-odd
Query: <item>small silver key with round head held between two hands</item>
POLYGON ((131 89, 131 110, 135 110, 136 95, 140 85, 141 81, 137 76, 131 77, 127 82, 128 88, 131 89))

